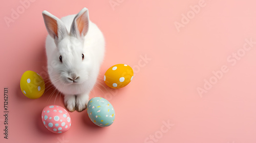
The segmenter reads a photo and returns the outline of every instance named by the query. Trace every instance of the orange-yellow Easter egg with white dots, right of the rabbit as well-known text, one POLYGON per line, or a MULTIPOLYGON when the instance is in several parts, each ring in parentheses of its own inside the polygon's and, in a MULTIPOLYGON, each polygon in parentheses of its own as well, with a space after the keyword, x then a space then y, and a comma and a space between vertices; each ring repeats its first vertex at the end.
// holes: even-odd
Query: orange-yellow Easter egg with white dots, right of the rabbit
POLYGON ((110 67, 104 75, 104 82, 113 89, 125 87, 132 79, 133 69, 125 64, 117 64, 110 67))

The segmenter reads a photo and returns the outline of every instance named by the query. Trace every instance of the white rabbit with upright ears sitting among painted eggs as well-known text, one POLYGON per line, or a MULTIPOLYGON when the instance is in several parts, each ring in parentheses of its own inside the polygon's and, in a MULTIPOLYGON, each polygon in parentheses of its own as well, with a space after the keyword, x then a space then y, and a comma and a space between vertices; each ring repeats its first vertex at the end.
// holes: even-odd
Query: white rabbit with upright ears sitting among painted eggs
POLYGON ((87 8, 58 19, 42 12, 48 36, 46 54, 50 80, 64 97, 69 111, 87 108, 104 58, 104 37, 89 20, 87 8))

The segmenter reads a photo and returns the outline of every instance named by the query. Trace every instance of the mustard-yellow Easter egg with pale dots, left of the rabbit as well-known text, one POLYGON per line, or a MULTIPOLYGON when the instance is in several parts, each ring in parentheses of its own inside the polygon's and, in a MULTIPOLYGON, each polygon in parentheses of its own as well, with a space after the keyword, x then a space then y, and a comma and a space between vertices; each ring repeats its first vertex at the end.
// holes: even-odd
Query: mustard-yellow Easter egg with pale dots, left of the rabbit
POLYGON ((30 99, 37 99, 45 92, 45 81, 34 71, 26 71, 20 79, 20 90, 30 99))

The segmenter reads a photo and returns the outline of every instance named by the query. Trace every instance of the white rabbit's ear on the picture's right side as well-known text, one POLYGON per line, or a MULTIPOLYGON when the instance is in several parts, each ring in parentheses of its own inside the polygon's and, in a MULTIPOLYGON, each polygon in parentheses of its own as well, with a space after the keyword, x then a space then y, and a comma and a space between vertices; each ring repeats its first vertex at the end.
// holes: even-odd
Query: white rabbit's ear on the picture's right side
POLYGON ((89 30, 89 12, 87 8, 83 8, 74 18, 70 34, 74 37, 84 37, 89 30))

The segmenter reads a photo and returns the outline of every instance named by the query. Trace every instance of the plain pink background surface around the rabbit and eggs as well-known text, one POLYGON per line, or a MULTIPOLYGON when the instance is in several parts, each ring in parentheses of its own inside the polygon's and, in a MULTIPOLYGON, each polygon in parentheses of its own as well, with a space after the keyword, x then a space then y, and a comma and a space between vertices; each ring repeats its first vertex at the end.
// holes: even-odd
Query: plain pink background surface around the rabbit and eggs
POLYGON ((256 142, 256 44, 236 64, 227 61, 232 53, 243 52, 246 39, 256 41, 255 1, 207 0, 180 32, 175 21, 181 22, 182 14, 193 14, 190 6, 200 0, 113 1, 119 3, 114 8, 109 0, 35 0, 9 27, 4 17, 11 18, 12 9, 22 4, 2 2, 0 87, 2 92, 4 87, 9 89, 10 112, 7 140, 2 93, 0 142, 256 142), (90 98, 108 99, 116 119, 110 127, 101 128, 90 121, 86 110, 74 111, 70 130, 53 134, 41 123, 40 114, 49 104, 63 106, 62 96, 50 89, 39 99, 28 99, 20 91, 19 80, 32 70, 49 81, 45 75, 47 31, 41 12, 60 18, 83 7, 89 9, 90 19, 106 40, 98 88, 90 98), (146 62, 141 59, 145 56, 146 62), (107 88, 102 75, 121 63, 134 68, 133 81, 123 89, 107 88), (214 82, 212 72, 222 66, 228 72, 200 96, 197 88, 204 89, 204 79, 214 82), (163 127, 163 122, 172 127, 163 127))

